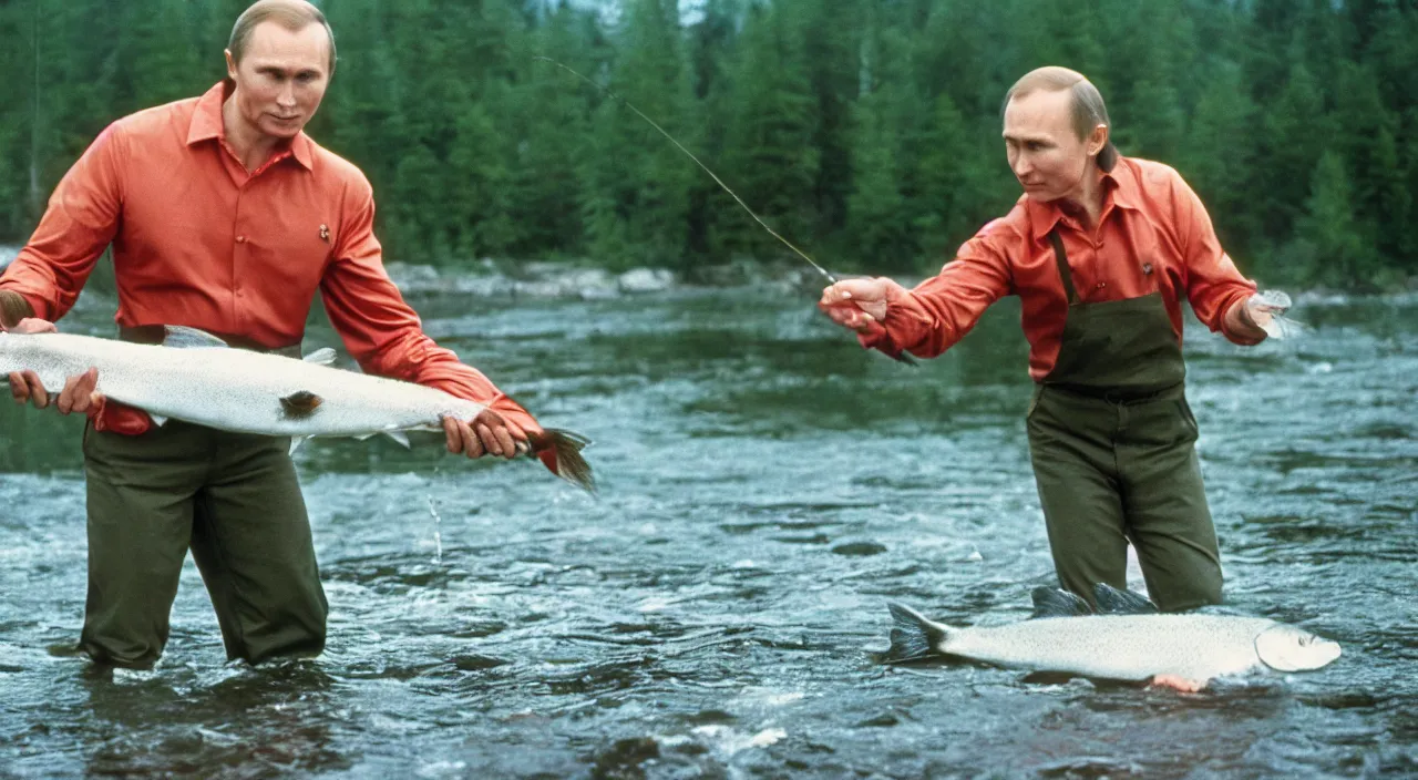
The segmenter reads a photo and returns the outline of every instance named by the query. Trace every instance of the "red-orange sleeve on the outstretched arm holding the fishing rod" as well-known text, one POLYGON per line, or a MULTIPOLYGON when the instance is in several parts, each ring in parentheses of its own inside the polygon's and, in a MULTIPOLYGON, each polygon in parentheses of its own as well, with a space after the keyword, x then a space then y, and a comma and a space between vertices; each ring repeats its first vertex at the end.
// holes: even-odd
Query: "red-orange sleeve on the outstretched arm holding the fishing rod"
POLYGON ((888 281, 886 318, 859 336, 862 346, 934 357, 968 333, 991 303, 1012 289, 994 224, 966 241, 940 274, 905 289, 888 281))

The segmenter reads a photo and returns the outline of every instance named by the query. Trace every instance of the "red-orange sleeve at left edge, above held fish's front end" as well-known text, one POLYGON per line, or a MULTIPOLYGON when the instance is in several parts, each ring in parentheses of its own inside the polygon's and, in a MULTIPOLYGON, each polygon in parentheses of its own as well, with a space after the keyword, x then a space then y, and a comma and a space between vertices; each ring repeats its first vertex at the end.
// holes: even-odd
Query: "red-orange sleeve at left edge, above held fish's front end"
POLYGON ((121 126, 109 125, 60 180, 30 243, 0 278, 0 289, 20 294, 34 316, 52 322, 68 313, 113 241, 125 156, 121 126))

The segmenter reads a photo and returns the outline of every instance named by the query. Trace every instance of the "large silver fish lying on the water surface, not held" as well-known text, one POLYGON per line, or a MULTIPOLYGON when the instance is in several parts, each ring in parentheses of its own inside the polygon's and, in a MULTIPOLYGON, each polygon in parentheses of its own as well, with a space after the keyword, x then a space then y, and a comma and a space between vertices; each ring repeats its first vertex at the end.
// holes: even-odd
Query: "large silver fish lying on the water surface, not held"
POLYGON ((1072 593, 1034 590, 1034 618, 997 627, 953 628, 891 604, 889 662, 953 655, 998 667, 1143 682, 1180 675, 1218 676, 1273 669, 1319 669, 1339 658, 1337 642, 1261 617, 1159 614, 1146 597, 1106 584, 1099 613, 1072 593))

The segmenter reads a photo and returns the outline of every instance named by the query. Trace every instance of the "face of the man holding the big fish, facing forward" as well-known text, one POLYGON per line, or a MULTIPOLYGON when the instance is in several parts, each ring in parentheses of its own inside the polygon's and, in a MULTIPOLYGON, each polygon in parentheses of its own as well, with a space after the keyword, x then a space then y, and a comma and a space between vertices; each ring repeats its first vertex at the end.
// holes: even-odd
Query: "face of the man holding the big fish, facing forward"
POLYGON ((292 33, 275 21, 251 30, 241 62, 227 51, 231 101, 245 129, 291 139, 315 116, 329 87, 330 40, 320 24, 292 33))

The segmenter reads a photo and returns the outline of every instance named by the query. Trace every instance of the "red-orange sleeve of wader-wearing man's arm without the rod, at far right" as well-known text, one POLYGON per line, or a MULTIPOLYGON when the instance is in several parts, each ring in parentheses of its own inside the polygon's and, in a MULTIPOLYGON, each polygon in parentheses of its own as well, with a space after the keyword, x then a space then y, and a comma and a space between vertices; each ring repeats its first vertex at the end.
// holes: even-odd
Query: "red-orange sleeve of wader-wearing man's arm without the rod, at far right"
POLYGON ((1255 295, 1255 282, 1242 277, 1236 264, 1221 248, 1211 216, 1180 174, 1173 187, 1191 311, 1212 332, 1219 332, 1238 345, 1256 343, 1256 339, 1235 332, 1227 318, 1232 306, 1255 295))

